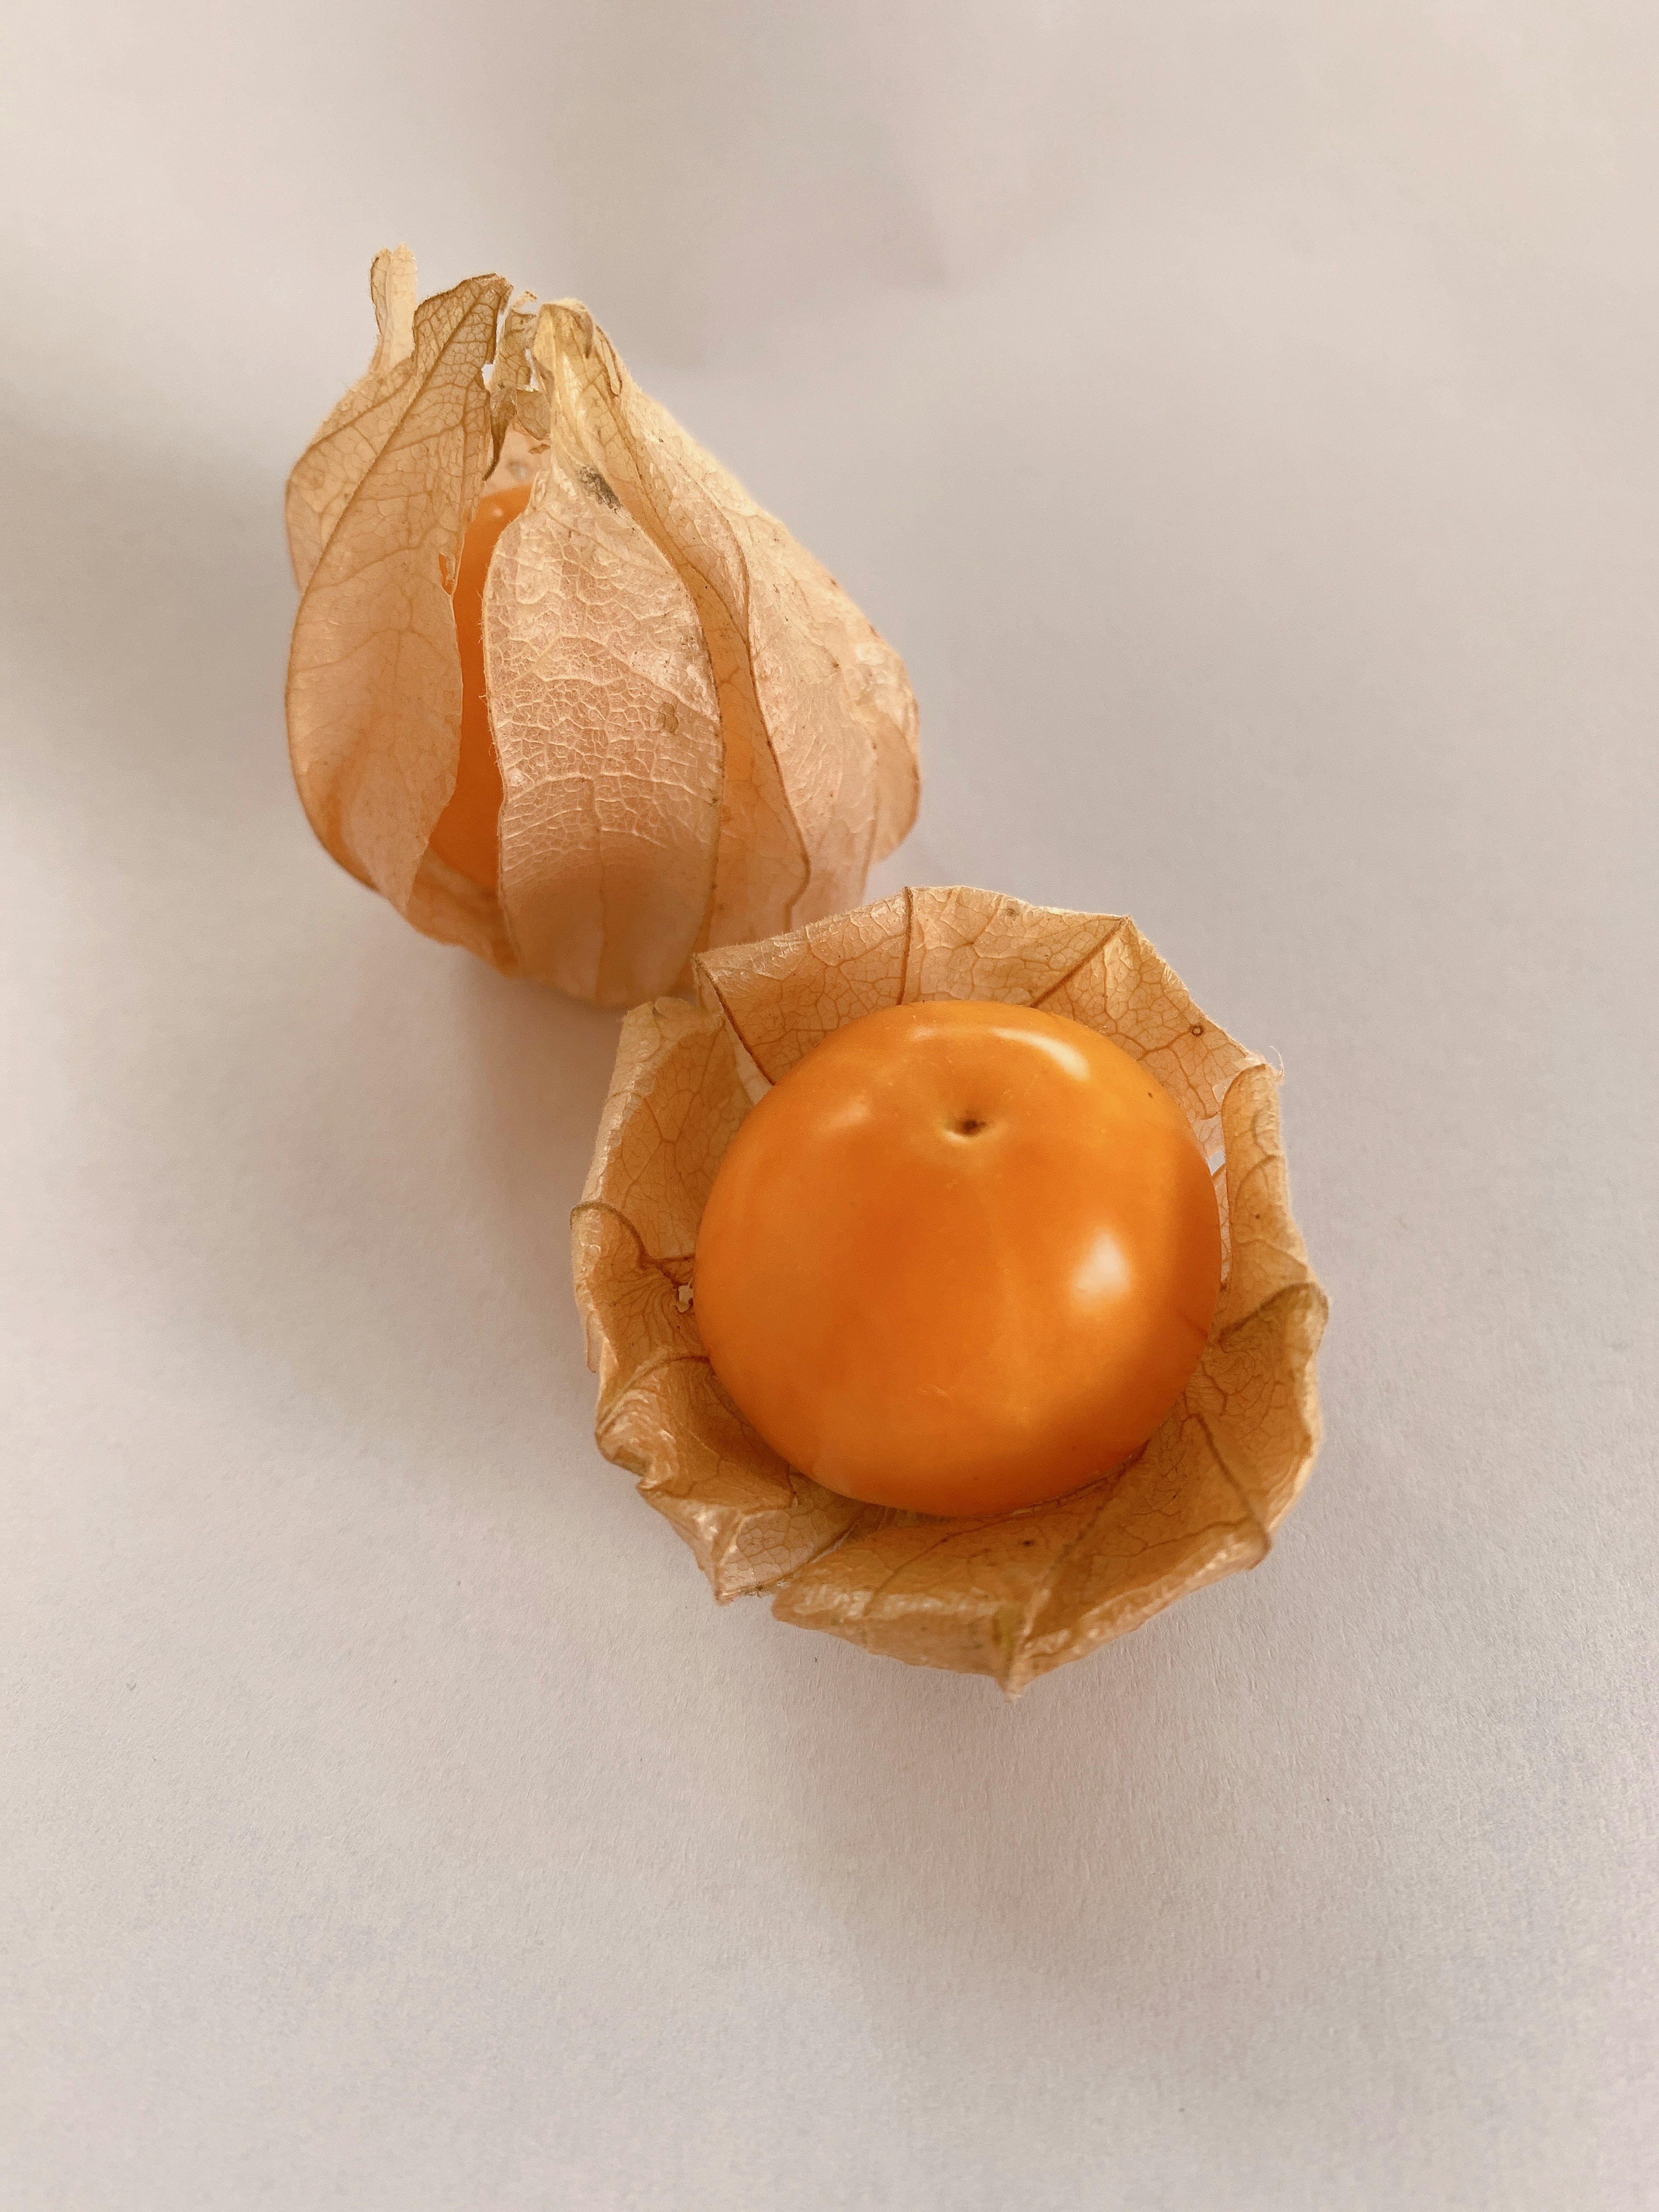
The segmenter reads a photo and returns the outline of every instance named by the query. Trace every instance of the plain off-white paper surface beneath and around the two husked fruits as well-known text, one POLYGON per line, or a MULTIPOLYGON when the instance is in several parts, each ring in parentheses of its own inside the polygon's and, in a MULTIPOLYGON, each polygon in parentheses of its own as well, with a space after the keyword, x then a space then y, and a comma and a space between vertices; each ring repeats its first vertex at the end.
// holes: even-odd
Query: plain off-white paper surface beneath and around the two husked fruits
POLYGON ((4 38, 0 2201, 1659 2203, 1652 9, 4 38), (907 655, 878 889, 1283 1055, 1321 1467, 1015 1708, 710 1604, 588 1433, 615 1018, 303 825, 279 495, 400 237, 907 655))

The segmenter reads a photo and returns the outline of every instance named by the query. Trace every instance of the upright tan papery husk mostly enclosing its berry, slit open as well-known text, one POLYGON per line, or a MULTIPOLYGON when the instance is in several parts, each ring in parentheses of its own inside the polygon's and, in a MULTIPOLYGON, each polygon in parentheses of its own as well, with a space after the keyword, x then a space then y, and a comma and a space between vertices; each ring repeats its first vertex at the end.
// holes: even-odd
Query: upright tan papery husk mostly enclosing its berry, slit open
POLYGON ((580 301, 416 303, 288 484, 288 732, 316 836, 416 929, 630 1004, 695 951, 854 905, 916 816, 916 701, 834 577, 628 376, 580 301), (484 586, 495 883, 434 849, 456 790, 451 593, 484 491, 531 484, 484 586))

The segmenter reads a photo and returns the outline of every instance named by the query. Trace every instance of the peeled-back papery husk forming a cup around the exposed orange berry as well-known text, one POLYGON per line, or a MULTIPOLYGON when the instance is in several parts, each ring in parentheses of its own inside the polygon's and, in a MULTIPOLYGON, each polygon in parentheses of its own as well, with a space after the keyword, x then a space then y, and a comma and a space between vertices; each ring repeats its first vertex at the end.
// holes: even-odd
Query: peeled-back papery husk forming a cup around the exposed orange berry
POLYGON ((1318 1449, 1325 1292, 1290 1212, 1272 1068, 1139 929, 918 889, 703 953, 695 975, 697 1004, 659 998, 624 1022, 573 1261, 599 1449, 714 1597, 768 1593, 799 1628, 991 1674, 1013 1697, 1263 1559, 1318 1449), (717 1383, 690 1303, 703 1201, 750 1106, 845 1022, 942 998, 1044 1006, 1141 1060, 1210 1161, 1225 1254, 1210 1340, 1148 1444, 1088 1489, 991 1520, 863 1506, 785 1467, 717 1383))

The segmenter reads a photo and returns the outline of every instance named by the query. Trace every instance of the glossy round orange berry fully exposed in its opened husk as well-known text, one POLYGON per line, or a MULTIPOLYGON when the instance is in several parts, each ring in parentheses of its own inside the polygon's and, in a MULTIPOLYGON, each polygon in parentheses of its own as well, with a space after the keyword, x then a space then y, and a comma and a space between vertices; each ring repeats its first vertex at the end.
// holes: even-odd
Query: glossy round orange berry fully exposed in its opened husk
POLYGON ((1221 1290, 1210 1170, 1119 1046, 1029 1006, 894 1006, 750 1113, 703 1208, 714 1374, 845 1498, 1009 1513, 1128 1458, 1221 1290))

